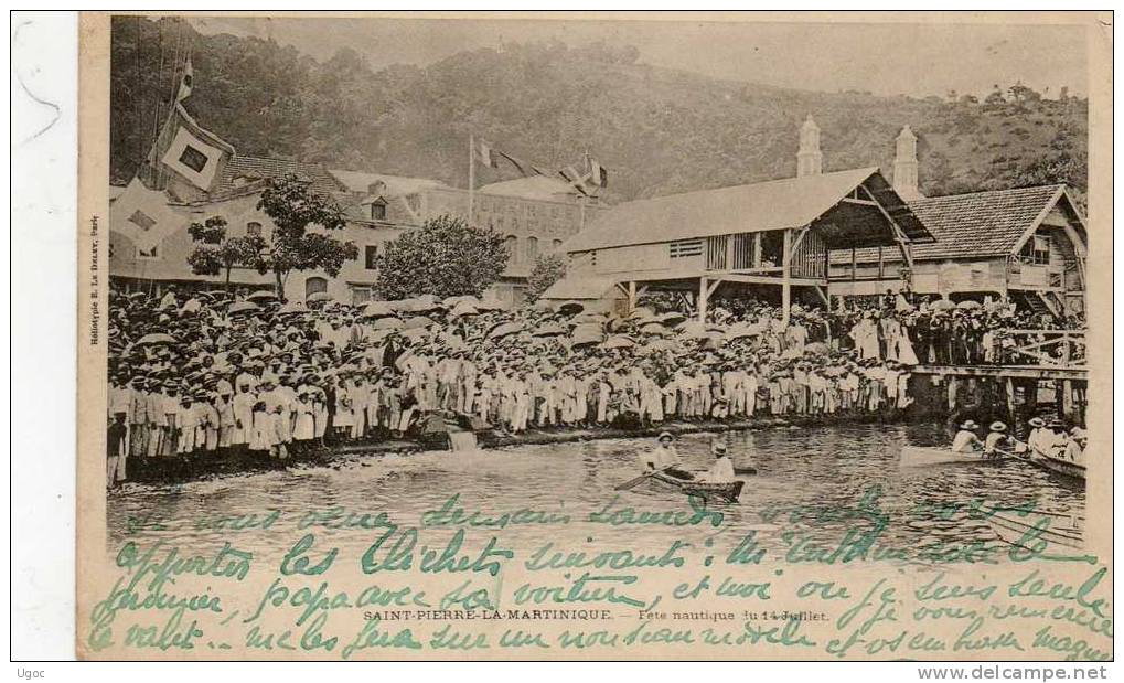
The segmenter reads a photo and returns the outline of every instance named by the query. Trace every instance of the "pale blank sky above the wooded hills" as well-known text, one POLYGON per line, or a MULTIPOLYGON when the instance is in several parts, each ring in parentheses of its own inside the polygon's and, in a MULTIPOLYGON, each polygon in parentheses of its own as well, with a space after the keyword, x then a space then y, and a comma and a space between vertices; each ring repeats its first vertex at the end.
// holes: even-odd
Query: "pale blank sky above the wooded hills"
POLYGON ((1022 80, 1051 98, 1062 86, 1071 95, 1088 91, 1084 26, 998 24, 994 18, 988 24, 942 25, 844 18, 846 23, 814 24, 194 17, 191 23, 205 34, 272 37, 317 60, 348 46, 377 70, 393 63, 424 66, 462 50, 505 42, 558 38, 570 45, 629 44, 640 50, 641 62, 655 66, 803 90, 914 97, 943 97, 955 90, 981 97, 994 84, 1005 88, 1022 80))

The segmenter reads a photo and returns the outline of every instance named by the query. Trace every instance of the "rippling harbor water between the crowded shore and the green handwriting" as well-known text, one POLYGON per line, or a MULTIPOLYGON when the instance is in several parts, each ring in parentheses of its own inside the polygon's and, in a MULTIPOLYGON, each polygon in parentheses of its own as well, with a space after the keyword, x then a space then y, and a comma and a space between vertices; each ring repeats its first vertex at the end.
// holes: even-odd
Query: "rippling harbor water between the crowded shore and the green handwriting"
MULTIPOLYGON (((653 446, 650 439, 615 439, 348 455, 328 465, 179 485, 127 484, 109 496, 110 549, 116 551, 126 540, 158 538, 185 550, 202 550, 230 540, 235 527, 248 525, 237 533, 236 542, 255 557, 283 555, 305 530, 324 534, 342 554, 360 555, 380 534, 375 522, 380 513, 399 527, 422 528, 443 506, 479 513, 474 527, 466 527, 479 543, 492 534, 518 548, 578 538, 599 547, 646 551, 662 551, 674 539, 700 540, 699 536, 715 537, 716 548, 731 548, 751 531, 763 545, 791 546, 794 538, 830 545, 849 529, 869 529, 877 514, 887 520, 882 545, 999 546, 981 511, 1033 504, 1084 514, 1081 483, 1018 461, 901 469, 903 446, 946 442, 934 425, 780 426, 690 434, 678 442, 687 469, 709 466, 710 442, 716 438, 729 446, 735 467, 758 473, 744 477, 746 486, 737 503, 716 506, 724 519, 718 529, 644 524, 637 531, 635 524, 588 523, 588 515, 599 511, 691 511, 681 492, 654 483, 614 491, 640 474, 637 456, 653 446), (513 518, 500 531, 500 515, 519 511, 565 516, 570 523, 562 528, 513 518), (277 515, 271 532, 255 533, 254 520, 271 513, 277 515)), ((445 525, 426 529, 425 534, 439 542, 453 531, 455 527, 445 525)))

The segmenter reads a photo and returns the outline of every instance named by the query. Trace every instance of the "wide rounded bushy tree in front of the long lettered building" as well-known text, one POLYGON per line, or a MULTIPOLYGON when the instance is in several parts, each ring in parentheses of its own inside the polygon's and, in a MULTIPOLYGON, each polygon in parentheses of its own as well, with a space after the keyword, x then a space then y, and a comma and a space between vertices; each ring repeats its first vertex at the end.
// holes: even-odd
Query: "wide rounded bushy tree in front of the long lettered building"
POLYGON ((460 217, 437 216, 387 243, 379 259, 379 294, 386 299, 480 296, 499 279, 507 260, 501 234, 460 217))

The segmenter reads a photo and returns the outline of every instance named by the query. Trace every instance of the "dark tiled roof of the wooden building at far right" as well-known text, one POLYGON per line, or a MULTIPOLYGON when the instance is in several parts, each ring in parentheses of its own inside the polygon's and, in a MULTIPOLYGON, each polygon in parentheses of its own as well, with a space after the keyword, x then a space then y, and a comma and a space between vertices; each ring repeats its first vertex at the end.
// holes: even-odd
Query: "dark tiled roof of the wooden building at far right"
MULTIPOLYGON (((1064 186, 1046 185, 969 195, 924 197, 909 203, 914 214, 936 237, 914 244, 918 261, 1006 255, 1019 237, 1062 196, 1064 186)), ((877 261, 878 250, 860 249, 859 262, 877 261)), ((851 255, 836 252, 832 262, 850 262, 851 255)))

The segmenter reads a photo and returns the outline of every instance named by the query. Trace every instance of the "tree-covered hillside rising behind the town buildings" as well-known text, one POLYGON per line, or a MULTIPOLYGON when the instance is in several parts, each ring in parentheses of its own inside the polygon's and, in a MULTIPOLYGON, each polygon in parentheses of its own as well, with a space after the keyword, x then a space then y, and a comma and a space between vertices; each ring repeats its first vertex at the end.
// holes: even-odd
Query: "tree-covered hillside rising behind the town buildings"
MULTIPOLYGON (((144 156, 166 111, 171 64, 189 50, 189 110, 244 154, 463 187, 471 133, 540 167, 577 164, 588 150, 610 170, 610 198, 622 200, 791 176, 797 128, 812 114, 825 170, 888 171, 894 137, 909 124, 928 195, 1086 187, 1087 102, 1019 86, 984 102, 808 92, 653 68, 627 46, 561 43, 372 71, 348 50, 320 63, 259 38, 134 17, 114 21, 115 180, 127 180, 144 156)), ((483 169, 478 182, 510 177, 483 169)))

